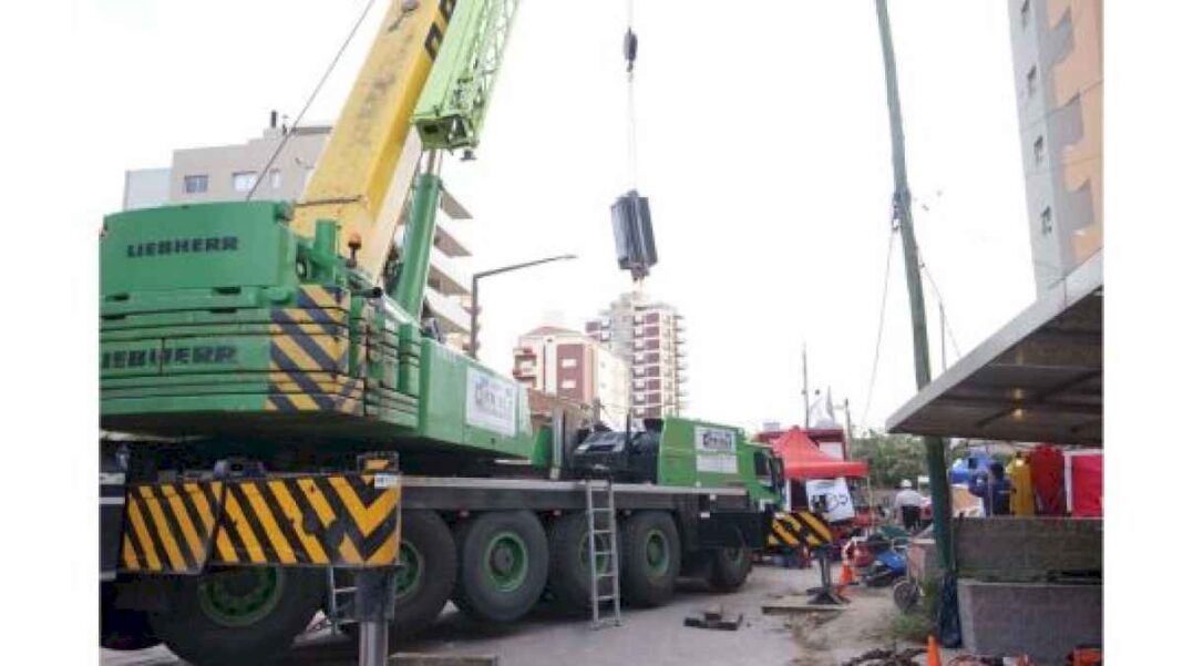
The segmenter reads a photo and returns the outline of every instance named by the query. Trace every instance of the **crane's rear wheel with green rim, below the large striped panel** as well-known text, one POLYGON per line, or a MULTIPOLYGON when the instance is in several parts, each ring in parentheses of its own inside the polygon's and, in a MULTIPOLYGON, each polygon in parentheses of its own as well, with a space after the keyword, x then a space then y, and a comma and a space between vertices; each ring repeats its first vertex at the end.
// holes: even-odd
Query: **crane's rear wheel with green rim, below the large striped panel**
POLYGON ((321 569, 233 567, 168 581, 156 635, 196 666, 267 664, 283 654, 324 600, 321 569))

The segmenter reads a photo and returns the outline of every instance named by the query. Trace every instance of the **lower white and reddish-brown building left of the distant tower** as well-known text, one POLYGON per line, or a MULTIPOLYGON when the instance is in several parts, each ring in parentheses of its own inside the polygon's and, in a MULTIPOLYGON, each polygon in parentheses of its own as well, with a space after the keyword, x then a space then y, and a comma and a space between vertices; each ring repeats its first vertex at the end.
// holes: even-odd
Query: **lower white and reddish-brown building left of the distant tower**
POLYGON ((625 425, 628 363, 578 331, 539 326, 518 337, 513 377, 542 393, 582 405, 599 403, 602 421, 616 428, 625 425))

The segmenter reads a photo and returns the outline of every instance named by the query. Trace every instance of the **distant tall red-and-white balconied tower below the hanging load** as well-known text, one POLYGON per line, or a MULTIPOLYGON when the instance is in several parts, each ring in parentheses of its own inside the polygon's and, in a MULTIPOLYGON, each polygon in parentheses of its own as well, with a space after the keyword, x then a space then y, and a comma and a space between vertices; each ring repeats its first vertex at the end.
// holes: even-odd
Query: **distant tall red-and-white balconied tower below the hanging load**
POLYGON ((677 416, 686 410, 686 324, 674 308, 639 291, 625 293, 588 322, 586 331, 627 361, 633 416, 677 416))

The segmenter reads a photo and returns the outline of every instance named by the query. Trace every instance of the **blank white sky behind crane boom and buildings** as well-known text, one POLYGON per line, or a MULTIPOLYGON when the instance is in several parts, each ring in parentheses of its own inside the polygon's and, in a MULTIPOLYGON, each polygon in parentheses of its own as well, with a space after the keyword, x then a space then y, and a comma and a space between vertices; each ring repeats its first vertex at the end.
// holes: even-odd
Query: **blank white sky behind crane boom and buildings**
MULTIPOLYGON (((295 116, 363 5, 76 2, 75 103, 93 128, 73 159, 89 177, 65 203, 80 232, 118 209, 124 169, 241 142, 273 108, 295 116)), ((308 121, 335 117, 384 5, 308 121)), ((890 8, 917 233, 969 351, 1034 297, 1006 4, 890 8)), ((623 30, 625 0, 524 2, 479 159, 445 167, 477 216, 472 267, 580 256, 483 285, 481 356, 504 371, 548 313, 581 328, 629 286, 608 213, 627 185, 623 30)), ((807 343, 810 383, 881 426, 914 384, 897 243, 864 422, 892 192, 874 4, 639 0, 636 32, 640 189, 660 258, 646 290, 686 316, 692 415, 797 422, 807 343)))

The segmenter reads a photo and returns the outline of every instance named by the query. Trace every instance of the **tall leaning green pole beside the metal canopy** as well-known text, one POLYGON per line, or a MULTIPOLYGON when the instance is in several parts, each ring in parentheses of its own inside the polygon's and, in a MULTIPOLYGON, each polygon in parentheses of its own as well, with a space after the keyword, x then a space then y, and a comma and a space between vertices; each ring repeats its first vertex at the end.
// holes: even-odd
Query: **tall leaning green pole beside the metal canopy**
MULTIPOLYGON (((891 40, 891 24, 885 0, 875 0, 879 14, 879 38, 884 51, 884 76, 887 79, 887 111, 891 117, 892 167, 896 174, 893 196, 894 219, 899 222, 899 234, 904 241, 904 271, 907 278, 909 305, 912 311, 912 349, 916 363, 917 390, 931 381, 929 369, 929 323, 924 313, 924 285, 920 283, 920 264, 916 251, 916 233, 912 229, 912 193, 907 187, 907 169, 904 161, 904 124, 899 110, 899 85, 896 82, 896 50, 891 40)), ((929 467, 929 484, 932 489, 932 531, 937 541, 940 563, 946 571, 953 570, 952 535, 949 522, 949 474, 945 464, 945 442, 937 437, 924 438, 924 451, 929 467)))

